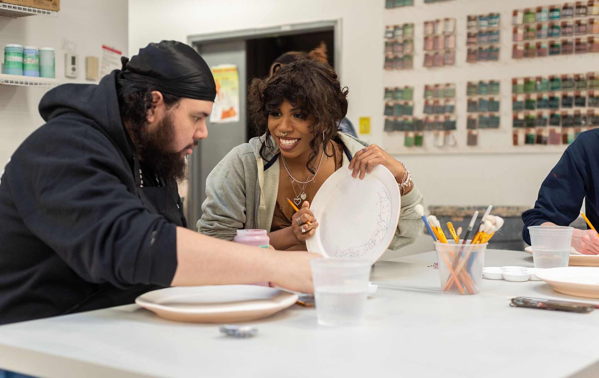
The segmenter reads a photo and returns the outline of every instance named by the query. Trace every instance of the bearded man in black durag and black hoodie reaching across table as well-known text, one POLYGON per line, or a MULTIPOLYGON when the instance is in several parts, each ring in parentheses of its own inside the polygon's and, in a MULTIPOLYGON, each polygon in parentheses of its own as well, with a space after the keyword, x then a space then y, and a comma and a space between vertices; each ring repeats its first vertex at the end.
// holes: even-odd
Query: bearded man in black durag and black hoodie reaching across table
POLYGON ((216 87, 198 53, 152 43, 99 84, 63 84, 0 178, 0 324, 133 303, 167 286, 270 281, 308 260, 187 229, 177 194, 216 87))

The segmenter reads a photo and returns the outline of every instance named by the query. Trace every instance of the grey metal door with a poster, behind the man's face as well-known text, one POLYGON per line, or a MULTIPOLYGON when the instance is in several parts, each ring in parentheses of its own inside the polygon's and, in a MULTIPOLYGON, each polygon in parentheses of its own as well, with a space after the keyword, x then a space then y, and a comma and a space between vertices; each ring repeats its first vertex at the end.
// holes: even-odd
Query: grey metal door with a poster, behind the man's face
POLYGON ((206 199, 206 178, 216 164, 235 146, 247 142, 246 136, 246 42, 213 42, 196 45, 208 66, 236 65, 239 72, 238 122, 208 124, 208 138, 200 141, 189 161, 189 192, 187 193, 187 224, 197 230, 196 222, 202 217, 202 203, 206 199))

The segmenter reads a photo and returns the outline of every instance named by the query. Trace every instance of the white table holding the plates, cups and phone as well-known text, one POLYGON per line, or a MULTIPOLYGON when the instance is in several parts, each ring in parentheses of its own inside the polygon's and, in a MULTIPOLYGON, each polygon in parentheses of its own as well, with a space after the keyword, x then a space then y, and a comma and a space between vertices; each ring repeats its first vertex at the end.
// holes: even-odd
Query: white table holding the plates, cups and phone
MULTIPOLYGON (((40 377, 592 377, 599 310, 509 306, 509 297, 573 298, 544 282, 483 279, 479 295, 441 294, 434 252, 380 261, 360 327, 326 328, 292 306, 253 322, 258 336, 158 318, 135 304, 0 327, 0 368, 40 377), (573 375, 574 374, 574 375, 573 375)), ((533 266, 520 251, 485 266, 533 266)))

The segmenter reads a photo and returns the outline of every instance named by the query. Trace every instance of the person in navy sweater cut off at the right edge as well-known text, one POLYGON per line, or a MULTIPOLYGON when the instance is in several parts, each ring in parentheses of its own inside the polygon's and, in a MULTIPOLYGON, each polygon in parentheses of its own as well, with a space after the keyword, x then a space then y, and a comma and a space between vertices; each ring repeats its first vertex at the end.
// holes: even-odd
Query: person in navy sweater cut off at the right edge
MULTIPOLYGON (((553 167, 539 190, 534 209, 522 213, 522 237, 530 244, 531 225, 570 225, 580 214, 585 199, 585 215, 599 226, 599 129, 576 138, 553 167)), ((572 246, 582 254, 599 254, 599 235, 594 230, 574 229, 572 246)))

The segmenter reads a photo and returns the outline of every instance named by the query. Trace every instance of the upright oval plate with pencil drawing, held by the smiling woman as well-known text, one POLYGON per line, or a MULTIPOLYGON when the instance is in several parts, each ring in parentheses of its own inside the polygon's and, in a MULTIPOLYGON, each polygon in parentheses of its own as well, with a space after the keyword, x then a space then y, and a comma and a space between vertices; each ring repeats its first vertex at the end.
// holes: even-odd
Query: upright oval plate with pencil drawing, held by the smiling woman
POLYGON ((400 189, 385 166, 364 179, 353 178, 347 165, 322 184, 310 210, 319 226, 306 240, 308 251, 325 257, 379 260, 395 236, 400 189))

